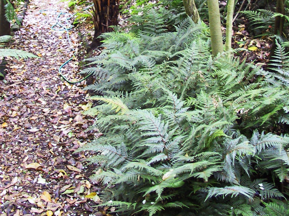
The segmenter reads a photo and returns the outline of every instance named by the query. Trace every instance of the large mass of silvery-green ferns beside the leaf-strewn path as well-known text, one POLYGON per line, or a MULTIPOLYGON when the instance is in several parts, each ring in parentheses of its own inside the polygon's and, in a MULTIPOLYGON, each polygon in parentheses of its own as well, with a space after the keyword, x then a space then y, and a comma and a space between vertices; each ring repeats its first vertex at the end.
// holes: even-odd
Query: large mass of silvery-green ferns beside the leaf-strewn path
POLYGON ((87 114, 103 135, 78 150, 95 152, 99 206, 119 215, 288 213, 281 41, 264 70, 227 53, 212 58, 207 25, 187 18, 168 31, 160 14, 103 34, 105 49, 83 71, 99 78, 87 89, 101 94, 87 114))

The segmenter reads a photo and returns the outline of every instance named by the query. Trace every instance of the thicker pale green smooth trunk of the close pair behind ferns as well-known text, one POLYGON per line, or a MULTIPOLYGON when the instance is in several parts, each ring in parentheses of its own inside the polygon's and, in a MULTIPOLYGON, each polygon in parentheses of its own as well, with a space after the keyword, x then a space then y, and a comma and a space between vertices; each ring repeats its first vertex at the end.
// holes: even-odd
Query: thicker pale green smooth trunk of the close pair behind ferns
POLYGON ((208 0, 209 22, 212 42, 212 54, 216 56, 223 52, 223 39, 221 30, 220 9, 218 0, 208 0))

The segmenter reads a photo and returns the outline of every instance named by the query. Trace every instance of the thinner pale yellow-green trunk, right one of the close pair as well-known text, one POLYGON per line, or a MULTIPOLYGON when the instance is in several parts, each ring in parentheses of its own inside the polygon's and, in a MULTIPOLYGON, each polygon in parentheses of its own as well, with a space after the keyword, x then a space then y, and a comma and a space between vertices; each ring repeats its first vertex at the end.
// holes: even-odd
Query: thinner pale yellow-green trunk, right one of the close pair
POLYGON ((230 51, 232 49, 232 35, 233 35, 233 14, 234 14, 234 0, 227 1, 227 23, 226 23, 226 43, 225 51, 230 51))

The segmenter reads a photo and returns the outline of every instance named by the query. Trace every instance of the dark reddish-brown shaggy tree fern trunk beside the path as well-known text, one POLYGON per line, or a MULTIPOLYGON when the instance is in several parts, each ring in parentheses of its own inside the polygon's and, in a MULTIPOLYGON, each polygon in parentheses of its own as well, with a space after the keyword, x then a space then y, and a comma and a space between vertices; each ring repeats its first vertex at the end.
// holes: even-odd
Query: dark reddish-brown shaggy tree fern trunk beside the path
POLYGON ((101 44, 99 38, 101 33, 113 31, 109 26, 118 24, 119 0, 92 0, 93 9, 93 24, 95 34, 88 50, 95 48, 101 44))

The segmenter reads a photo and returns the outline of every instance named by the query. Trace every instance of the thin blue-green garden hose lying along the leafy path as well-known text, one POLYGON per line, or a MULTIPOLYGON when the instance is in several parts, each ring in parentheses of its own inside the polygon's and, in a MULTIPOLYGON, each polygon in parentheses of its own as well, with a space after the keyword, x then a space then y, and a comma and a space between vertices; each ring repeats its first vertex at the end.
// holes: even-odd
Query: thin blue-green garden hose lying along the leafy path
MULTIPOLYGON (((93 6, 93 5, 90 5, 90 6, 86 7, 85 9, 83 9, 82 11, 88 10, 88 8, 90 8, 90 7, 92 7, 92 6, 93 6)), ((61 15, 66 15, 66 14, 68 14, 68 13, 60 12, 60 13, 58 14, 57 18, 56 18, 55 24, 52 25, 51 29, 53 29, 53 30, 55 30, 55 31, 66 31, 67 40, 68 40, 69 44, 71 44, 71 40, 70 40, 70 38, 69 38, 69 32, 68 32, 68 31, 69 31, 70 29, 72 29, 73 26, 72 26, 70 23, 68 23, 68 20, 70 20, 70 19, 71 19, 73 16, 75 16, 75 14, 77 14, 77 13, 72 14, 71 16, 69 16, 69 17, 65 20, 65 23, 66 23, 68 26, 71 26, 71 27, 69 27, 69 28, 66 27, 67 25, 63 25, 63 24, 60 22, 60 20, 59 20, 59 17, 60 17, 61 15), (60 27, 63 28, 63 29, 55 29, 54 27, 57 26, 57 25, 60 26, 60 27)), ((68 79, 61 73, 61 69, 62 69, 62 67, 64 67, 64 65, 66 65, 68 62, 70 62, 72 59, 73 59, 73 57, 69 58, 66 62, 64 62, 64 63, 58 68, 58 73, 59 73, 59 75, 60 75, 66 82, 68 82, 68 83, 70 83, 70 84, 76 84, 76 83, 79 83, 79 82, 87 79, 90 75, 92 75, 92 73, 89 73, 86 77, 84 77, 84 78, 82 78, 82 79, 80 79, 80 80, 78 80, 78 81, 75 81, 75 82, 72 82, 72 81, 68 80, 68 79)))

